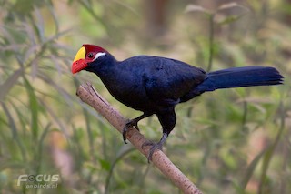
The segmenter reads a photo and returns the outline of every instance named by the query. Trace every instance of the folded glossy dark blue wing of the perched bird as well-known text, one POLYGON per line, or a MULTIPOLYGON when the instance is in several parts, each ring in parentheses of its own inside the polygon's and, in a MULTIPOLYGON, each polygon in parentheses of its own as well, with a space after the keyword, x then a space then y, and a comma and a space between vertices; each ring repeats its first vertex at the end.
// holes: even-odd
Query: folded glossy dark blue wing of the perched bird
POLYGON ((146 94, 161 106, 176 105, 206 77, 203 69, 181 61, 161 57, 150 61, 144 76, 146 94))

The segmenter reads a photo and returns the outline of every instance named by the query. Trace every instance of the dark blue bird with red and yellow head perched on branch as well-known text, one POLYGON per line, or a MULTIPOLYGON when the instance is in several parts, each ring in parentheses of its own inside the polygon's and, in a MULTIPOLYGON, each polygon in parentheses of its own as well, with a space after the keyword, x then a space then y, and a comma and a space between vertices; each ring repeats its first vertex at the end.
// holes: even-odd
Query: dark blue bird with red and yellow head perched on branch
POLYGON ((206 72, 202 68, 162 56, 133 56, 118 61, 105 48, 84 44, 77 51, 71 71, 82 70, 100 77, 109 93, 118 101, 135 110, 139 117, 128 120, 123 128, 126 143, 128 128, 135 127, 146 117, 156 115, 163 135, 158 142, 148 141, 148 162, 176 126, 177 104, 198 97, 205 92, 231 87, 280 85, 284 82, 275 67, 243 66, 206 72))

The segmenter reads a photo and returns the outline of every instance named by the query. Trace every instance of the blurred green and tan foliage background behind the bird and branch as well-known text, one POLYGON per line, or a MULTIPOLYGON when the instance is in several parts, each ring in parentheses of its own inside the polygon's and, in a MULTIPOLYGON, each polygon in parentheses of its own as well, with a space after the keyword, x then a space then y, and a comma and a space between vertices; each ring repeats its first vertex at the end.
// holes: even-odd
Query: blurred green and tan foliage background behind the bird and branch
MULTIPOLYGON (((179 193, 75 96, 89 81, 125 117, 140 114, 95 75, 71 74, 84 43, 119 60, 278 68, 284 86, 219 90, 177 106, 165 151, 205 193, 291 193, 290 0, 1 0, 0 20, 1 193, 179 193), (56 189, 27 189, 29 181, 17 186, 22 174, 61 179, 56 189)), ((156 117, 140 128, 161 136, 156 117)))

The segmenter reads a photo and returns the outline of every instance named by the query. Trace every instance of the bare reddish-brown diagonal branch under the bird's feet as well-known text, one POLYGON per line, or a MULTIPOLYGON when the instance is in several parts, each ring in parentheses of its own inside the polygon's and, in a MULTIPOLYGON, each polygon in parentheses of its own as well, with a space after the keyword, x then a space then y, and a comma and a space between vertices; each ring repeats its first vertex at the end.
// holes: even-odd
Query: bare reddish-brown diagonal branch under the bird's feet
MULTIPOLYGON (((83 102, 94 107, 109 123, 115 127, 120 133, 125 126, 126 119, 110 106, 104 97, 101 97, 95 88, 87 83, 78 87, 76 95, 81 98, 83 102)), ((142 148, 142 145, 147 141, 146 138, 135 128, 129 128, 126 133, 126 138, 138 149, 143 155, 148 156, 149 148, 142 148)), ((164 152, 156 149, 153 154, 152 163, 158 168, 168 179, 171 179, 177 188, 181 189, 184 193, 202 194, 197 189, 196 185, 192 183, 186 176, 166 157, 164 152)))

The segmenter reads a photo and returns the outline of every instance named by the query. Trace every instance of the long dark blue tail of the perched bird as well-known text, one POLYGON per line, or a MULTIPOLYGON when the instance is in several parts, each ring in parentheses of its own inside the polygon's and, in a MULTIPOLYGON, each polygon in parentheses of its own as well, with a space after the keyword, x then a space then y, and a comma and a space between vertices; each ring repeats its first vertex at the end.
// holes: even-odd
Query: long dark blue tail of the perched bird
POLYGON ((274 67, 246 66, 209 72, 205 81, 196 87, 203 93, 230 87, 254 87, 283 84, 283 78, 274 67))

